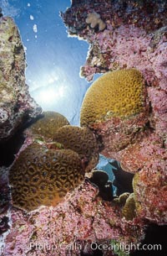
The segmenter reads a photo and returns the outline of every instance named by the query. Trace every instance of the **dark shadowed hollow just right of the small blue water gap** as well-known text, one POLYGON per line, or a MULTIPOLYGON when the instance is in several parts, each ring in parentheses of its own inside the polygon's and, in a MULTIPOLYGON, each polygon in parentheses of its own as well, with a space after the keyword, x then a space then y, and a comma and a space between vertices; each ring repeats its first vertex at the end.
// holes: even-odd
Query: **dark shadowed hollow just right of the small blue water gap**
POLYGON ((134 178, 134 174, 124 171, 120 167, 119 162, 115 160, 110 161, 109 165, 112 165, 114 173, 113 185, 117 187, 117 196, 120 196, 124 192, 133 193, 132 180, 134 178))

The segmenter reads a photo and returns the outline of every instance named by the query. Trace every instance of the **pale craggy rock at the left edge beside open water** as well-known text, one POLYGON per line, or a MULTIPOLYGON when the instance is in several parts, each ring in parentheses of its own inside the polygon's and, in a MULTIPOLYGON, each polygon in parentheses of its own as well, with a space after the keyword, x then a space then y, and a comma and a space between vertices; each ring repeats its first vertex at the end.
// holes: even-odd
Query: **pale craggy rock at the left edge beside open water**
POLYGON ((9 138, 25 122, 36 118, 41 107, 25 83, 25 54, 12 18, 0 18, 0 141, 9 138))

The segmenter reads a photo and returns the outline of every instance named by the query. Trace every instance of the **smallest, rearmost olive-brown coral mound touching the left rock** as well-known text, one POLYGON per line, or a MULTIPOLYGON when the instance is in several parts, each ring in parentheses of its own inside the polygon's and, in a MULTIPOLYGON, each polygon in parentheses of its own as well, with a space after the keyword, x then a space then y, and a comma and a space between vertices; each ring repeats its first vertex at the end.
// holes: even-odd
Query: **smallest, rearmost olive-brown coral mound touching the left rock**
POLYGON ((43 117, 33 123, 28 130, 36 135, 41 135, 49 140, 53 139, 53 134, 63 125, 68 125, 68 120, 58 112, 43 112, 43 117))

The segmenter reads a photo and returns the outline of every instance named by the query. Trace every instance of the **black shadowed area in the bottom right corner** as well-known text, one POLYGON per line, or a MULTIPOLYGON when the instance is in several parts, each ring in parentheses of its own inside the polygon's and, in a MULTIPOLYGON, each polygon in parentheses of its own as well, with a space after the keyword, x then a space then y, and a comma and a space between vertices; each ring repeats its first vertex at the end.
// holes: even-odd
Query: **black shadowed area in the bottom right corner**
POLYGON ((167 243, 166 243, 167 225, 158 226, 156 224, 150 224, 145 231, 145 238, 139 246, 139 250, 134 253, 130 253, 130 256, 165 256, 167 255, 167 243), (142 246, 148 247, 148 249, 142 249, 142 246), (156 246, 159 248, 156 249, 156 246))

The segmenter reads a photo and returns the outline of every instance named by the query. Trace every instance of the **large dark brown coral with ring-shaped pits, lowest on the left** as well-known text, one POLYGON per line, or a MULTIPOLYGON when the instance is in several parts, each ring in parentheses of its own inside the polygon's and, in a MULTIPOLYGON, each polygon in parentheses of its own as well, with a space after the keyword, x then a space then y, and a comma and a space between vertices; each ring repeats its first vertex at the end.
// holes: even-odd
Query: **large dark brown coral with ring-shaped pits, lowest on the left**
POLYGON ((30 144, 19 154, 9 173, 13 205, 27 211, 42 205, 55 206, 82 180, 77 153, 30 144))

